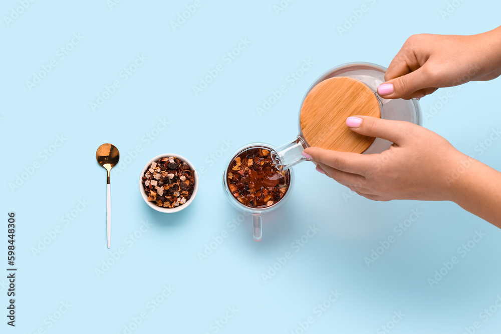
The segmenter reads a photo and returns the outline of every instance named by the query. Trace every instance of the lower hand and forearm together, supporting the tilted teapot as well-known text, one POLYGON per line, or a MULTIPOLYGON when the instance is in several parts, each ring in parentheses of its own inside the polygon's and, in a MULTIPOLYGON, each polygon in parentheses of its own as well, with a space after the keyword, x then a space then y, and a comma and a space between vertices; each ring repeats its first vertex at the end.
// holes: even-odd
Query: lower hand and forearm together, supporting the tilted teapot
POLYGON ((368 116, 348 117, 362 135, 393 142, 380 154, 309 147, 303 155, 317 170, 377 201, 449 200, 501 228, 501 173, 457 151, 418 125, 368 116))

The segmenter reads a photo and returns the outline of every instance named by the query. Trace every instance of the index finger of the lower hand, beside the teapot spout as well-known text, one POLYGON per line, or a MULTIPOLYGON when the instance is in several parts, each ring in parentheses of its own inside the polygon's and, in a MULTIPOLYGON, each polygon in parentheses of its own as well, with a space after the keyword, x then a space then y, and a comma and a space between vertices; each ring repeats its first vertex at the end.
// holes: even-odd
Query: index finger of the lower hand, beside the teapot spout
POLYGON ((303 151, 303 155, 304 154, 307 154, 316 163, 322 163, 348 173, 361 174, 362 171, 370 167, 369 158, 358 153, 338 152, 324 150, 319 147, 309 147, 303 151))

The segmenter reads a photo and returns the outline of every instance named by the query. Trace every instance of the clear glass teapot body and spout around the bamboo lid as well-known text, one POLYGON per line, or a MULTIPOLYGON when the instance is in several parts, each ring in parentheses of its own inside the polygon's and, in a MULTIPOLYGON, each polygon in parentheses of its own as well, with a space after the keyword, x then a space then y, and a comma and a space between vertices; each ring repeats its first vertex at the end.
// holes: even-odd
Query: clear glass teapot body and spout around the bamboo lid
MULTIPOLYGON (((380 111, 381 118, 387 120, 407 121, 417 125, 422 124, 421 109, 418 99, 384 99, 377 94, 377 87, 384 82, 386 68, 371 63, 349 63, 335 67, 321 75, 306 92, 303 102, 308 93, 320 82, 334 77, 348 77, 356 79, 365 84, 375 94, 380 111)), ((301 108, 300 108, 301 116, 301 108)), ((298 117, 299 135, 292 141, 270 151, 271 157, 279 170, 287 170, 300 163, 306 158, 301 154, 304 149, 309 147, 301 130, 301 118, 298 117)), ((363 152, 363 154, 381 153, 387 150, 392 143, 376 138, 372 145, 363 152)))

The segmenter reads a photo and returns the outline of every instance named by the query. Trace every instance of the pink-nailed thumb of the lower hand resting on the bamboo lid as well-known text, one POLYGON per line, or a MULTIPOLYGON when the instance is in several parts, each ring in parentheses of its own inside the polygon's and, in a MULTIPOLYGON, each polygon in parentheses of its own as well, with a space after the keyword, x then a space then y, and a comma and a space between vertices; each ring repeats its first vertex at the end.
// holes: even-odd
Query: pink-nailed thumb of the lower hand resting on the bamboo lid
POLYGON ((346 125, 356 133, 364 136, 377 137, 401 145, 406 138, 412 137, 412 123, 404 121, 384 120, 369 116, 351 116, 346 119, 346 125))

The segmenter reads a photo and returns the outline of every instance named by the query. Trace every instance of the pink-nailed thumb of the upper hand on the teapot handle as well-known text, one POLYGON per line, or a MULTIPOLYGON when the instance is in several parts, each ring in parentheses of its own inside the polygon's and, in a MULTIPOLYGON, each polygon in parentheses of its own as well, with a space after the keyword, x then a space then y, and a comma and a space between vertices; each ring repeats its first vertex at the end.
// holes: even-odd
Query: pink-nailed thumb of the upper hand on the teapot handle
POLYGON ((377 88, 379 96, 385 99, 420 98, 433 93, 436 88, 430 88, 431 79, 425 66, 403 76, 388 80, 377 88))

